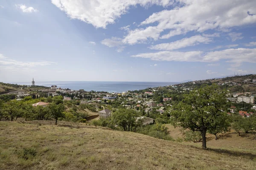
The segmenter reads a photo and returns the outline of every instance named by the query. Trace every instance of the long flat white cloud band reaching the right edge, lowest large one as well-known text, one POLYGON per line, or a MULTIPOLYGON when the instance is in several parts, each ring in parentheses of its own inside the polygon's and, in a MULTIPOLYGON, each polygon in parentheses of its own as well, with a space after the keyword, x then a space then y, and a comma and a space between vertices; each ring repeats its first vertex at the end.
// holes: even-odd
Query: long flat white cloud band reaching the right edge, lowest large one
POLYGON ((217 62, 222 59, 227 62, 256 62, 256 48, 230 48, 221 51, 159 51, 155 53, 142 53, 131 57, 148 58, 159 61, 182 61, 182 62, 217 62))

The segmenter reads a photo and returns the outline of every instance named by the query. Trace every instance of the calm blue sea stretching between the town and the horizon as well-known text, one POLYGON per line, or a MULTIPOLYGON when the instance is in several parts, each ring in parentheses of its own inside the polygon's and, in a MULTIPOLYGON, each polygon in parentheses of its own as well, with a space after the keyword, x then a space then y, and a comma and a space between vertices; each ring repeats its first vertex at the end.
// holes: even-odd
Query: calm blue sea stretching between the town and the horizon
MULTIPOLYGON (((18 85, 31 85, 31 82, 11 82, 18 85)), ((106 91, 120 93, 124 91, 141 90, 145 88, 154 88, 159 86, 174 85, 179 82, 89 82, 89 81, 44 81, 35 82, 35 85, 50 87, 57 85, 58 88, 69 88, 71 90, 84 91, 106 91)))

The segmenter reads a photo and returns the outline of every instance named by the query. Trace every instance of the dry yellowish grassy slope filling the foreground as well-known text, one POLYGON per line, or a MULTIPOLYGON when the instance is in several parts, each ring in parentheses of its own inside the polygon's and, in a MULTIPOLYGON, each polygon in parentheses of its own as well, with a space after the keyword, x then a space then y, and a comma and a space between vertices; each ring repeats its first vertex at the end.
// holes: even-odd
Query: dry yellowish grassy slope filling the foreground
POLYGON ((256 154, 53 121, 0 122, 1 170, 255 170, 256 154))

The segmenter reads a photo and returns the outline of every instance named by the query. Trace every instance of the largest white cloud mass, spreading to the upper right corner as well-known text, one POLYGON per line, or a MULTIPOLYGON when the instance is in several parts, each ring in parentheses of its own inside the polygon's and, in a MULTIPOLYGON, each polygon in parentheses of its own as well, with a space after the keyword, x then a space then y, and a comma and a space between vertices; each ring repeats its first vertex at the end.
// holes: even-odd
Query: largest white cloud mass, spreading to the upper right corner
MULTIPOLYGON (((230 0, 176 0, 176 2, 181 4, 180 7, 154 13, 140 24, 140 26, 149 24, 156 26, 130 31, 125 37, 125 42, 140 43, 141 40, 145 41, 152 37, 154 40, 168 39, 189 31, 204 32, 210 29, 230 31, 230 28, 235 26, 256 23, 256 15, 247 14, 248 11, 256 13, 255 0, 234 0, 232 3, 230 0), (160 33, 164 30, 170 31, 160 37, 160 33), (146 34, 143 34, 145 32, 146 34)), ((237 38, 241 36, 232 39, 235 41, 237 38)))

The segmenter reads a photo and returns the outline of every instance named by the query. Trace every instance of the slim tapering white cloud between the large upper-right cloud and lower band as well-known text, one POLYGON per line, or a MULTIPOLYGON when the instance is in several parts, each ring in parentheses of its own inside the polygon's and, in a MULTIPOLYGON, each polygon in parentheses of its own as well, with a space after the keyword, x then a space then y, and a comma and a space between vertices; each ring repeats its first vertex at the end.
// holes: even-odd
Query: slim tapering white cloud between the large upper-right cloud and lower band
POLYGON ((193 37, 183 38, 183 39, 177 40, 175 42, 153 45, 149 48, 153 49, 153 50, 175 50, 175 49, 184 48, 187 46, 198 45, 199 43, 208 43, 211 41, 212 40, 208 37, 203 37, 201 35, 195 35, 193 37))

